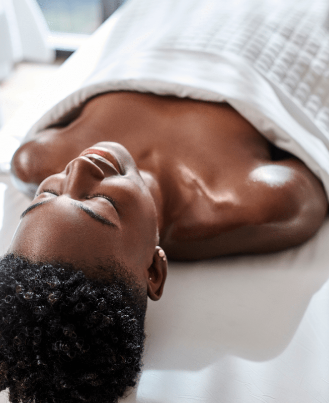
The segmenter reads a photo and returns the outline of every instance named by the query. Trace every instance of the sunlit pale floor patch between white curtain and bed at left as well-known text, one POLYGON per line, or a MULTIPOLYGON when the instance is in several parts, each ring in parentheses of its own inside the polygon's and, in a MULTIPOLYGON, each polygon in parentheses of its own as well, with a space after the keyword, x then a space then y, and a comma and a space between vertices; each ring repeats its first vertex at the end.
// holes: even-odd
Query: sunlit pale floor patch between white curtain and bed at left
POLYGON ((22 62, 15 66, 0 84, 0 113, 4 122, 15 114, 30 91, 58 69, 62 62, 62 59, 57 59, 53 64, 22 62))

